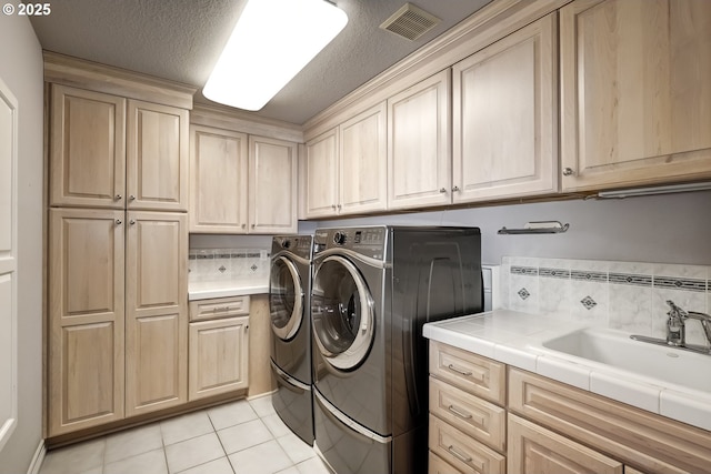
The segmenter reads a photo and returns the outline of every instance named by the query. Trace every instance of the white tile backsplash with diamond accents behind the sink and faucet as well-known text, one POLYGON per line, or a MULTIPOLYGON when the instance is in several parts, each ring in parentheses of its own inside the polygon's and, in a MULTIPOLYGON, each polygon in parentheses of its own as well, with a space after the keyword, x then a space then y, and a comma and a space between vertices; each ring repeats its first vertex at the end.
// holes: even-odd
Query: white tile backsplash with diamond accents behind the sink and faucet
MULTIPOLYGON (((711 266, 504 256, 500 276, 507 309, 654 337, 667 334, 667 300, 711 311, 711 266)), ((687 341, 705 344, 698 321, 687 341)))

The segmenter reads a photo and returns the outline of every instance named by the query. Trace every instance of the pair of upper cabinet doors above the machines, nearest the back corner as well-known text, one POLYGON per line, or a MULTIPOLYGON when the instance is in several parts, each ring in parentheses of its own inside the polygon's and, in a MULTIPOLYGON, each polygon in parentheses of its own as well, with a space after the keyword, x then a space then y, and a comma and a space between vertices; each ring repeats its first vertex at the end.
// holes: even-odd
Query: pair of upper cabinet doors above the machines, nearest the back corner
POLYGON ((387 208, 385 112, 381 102, 307 143, 308 218, 387 208))

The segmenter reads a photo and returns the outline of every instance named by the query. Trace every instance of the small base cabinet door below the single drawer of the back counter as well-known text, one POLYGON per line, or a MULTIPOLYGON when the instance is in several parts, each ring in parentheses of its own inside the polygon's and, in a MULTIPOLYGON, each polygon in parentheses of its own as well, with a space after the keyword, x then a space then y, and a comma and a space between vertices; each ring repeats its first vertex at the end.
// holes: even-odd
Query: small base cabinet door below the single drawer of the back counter
POLYGON ((247 389, 249 316, 190 324, 190 401, 247 389))

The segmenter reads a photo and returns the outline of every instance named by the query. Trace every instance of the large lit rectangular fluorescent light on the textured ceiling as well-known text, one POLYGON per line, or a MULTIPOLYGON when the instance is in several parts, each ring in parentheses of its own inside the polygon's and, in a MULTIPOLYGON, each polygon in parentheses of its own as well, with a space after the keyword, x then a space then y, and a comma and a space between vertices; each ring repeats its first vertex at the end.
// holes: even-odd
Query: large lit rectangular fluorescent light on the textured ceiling
POLYGON ((260 110, 346 23, 346 12, 326 0, 249 0, 204 85, 204 97, 260 110))

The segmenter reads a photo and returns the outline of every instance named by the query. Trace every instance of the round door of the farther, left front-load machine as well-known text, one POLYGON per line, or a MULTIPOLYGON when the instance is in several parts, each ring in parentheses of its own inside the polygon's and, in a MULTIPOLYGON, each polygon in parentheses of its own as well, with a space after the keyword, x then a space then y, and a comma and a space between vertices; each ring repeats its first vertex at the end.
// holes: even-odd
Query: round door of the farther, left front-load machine
POLYGON ((303 320, 303 286, 293 262, 279 256, 271 263, 269 282, 271 329, 277 337, 292 339, 303 320))

